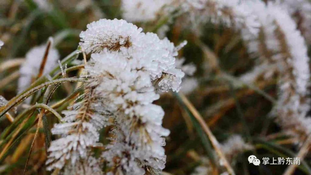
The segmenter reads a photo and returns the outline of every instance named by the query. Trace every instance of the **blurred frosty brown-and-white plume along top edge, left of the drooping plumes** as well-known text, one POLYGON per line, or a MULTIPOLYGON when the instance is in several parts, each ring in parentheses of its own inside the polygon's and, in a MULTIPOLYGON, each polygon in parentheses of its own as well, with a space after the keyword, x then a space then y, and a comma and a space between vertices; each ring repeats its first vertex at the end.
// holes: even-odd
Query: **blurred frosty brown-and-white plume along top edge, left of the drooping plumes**
MULTIPOLYGON (((183 1, 181 1, 183 2, 183 1)), ((184 17, 188 19, 183 22, 186 27, 200 34, 202 25, 208 21, 223 23, 235 29, 247 28, 252 33, 256 32, 258 23, 252 14, 252 8, 248 3, 239 0, 185 0, 182 3, 184 17)))

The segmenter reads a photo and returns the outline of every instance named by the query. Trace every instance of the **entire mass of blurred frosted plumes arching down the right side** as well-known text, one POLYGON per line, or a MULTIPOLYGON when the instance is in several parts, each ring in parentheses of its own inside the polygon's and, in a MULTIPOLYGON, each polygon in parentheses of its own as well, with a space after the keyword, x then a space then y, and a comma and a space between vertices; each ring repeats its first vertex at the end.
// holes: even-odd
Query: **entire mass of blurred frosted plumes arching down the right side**
MULTIPOLYGON (((296 140, 304 141, 311 131, 307 116, 309 57, 307 47, 290 12, 279 2, 197 0, 187 1, 189 17, 198 25, 205 19, 241 31, 250 54, 259 57, 261 67, 276 64, 264 77, 279 75, 276 121, 296 140)), ((258 69, 254 70, 257 75, 258 69)), ((252 75, 253 76, 253 75, 252 75)), ((255 79, 253 77, 253 79, 255 79)))

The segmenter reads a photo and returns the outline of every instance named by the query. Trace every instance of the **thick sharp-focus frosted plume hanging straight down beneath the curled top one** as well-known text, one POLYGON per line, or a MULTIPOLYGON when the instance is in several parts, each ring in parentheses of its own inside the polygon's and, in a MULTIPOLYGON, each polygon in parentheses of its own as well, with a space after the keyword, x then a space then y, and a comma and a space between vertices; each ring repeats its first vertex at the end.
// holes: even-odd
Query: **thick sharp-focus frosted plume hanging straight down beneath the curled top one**
POLYGON ((136 55, 129 58, 121 52, 104 50, 92 54, 85 69, 97 77, 95 93, 103 97, 103 110, 115 114, 114 125, 118 128, 114 130, 114 141, 107 147, 109 150, 103 158, 107 158, 110 166, 125 169, 129 174, 144 174, 143 167, 146 166, 155 171, 163 169, 162 136, 169 134, 161 126, 163 110, 151 104, 159 95, 152 87, 147 69, 149 63, 137 64, 139 59, 136 55), (115 158, 122 161, 112 161, 115 158))

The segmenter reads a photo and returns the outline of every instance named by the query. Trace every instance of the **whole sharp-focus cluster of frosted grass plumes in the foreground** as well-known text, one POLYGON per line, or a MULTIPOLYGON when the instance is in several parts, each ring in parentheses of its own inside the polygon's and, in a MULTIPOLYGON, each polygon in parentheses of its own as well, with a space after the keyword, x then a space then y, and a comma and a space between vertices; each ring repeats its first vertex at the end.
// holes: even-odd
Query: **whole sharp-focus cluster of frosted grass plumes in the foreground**
POLYGON ((124 20, 101 19, 87 27, 80 46, 92 53, 84 69, 91 83, 81 102, 63 111, 65 123, 52 129, 61 138, 49 148, 48 169, 83 167, 91 148, 100 146, 98 131, 110 125, 111 142, 101 158, 91 157, 94 166, 88 170, 103 160, 109 174, 156 174, 165 168, 169 130, 162 127, 163 109, 152 103, 160 97, 156 92, 180 89, 179 47, 124 20))

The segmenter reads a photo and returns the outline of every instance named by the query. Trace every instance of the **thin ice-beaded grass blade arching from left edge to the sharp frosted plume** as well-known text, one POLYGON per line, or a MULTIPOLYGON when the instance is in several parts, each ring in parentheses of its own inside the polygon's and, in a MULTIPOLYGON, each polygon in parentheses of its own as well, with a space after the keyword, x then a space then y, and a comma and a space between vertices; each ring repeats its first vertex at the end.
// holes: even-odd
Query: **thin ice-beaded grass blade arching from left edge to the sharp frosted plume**
POLYGON ((39 89, 42 89, 44 87, 53 85, 53 84, 58 84, 58 83, 64 83, 64 82, 88 82, 86 80, 86 78, 60 78, 58 80, 52 80, 46 83, 43 83, 39 86, 36 86, 32 89, 30 89, 29 91, 23 93, 21 96, 17 96, 14 97, 12 100, 10 100, 6 106, 3 106, 0 108, 0 118, 7 113, 7 111, 9 111, 10 109, 12 109, 12 107, 16 106, 17 104, 19 104, 20 102, 22 102, 23 100, 25 100, 27 97, 29 97, 31 94, 33 94, 34 92, 38 91, 39 89))

